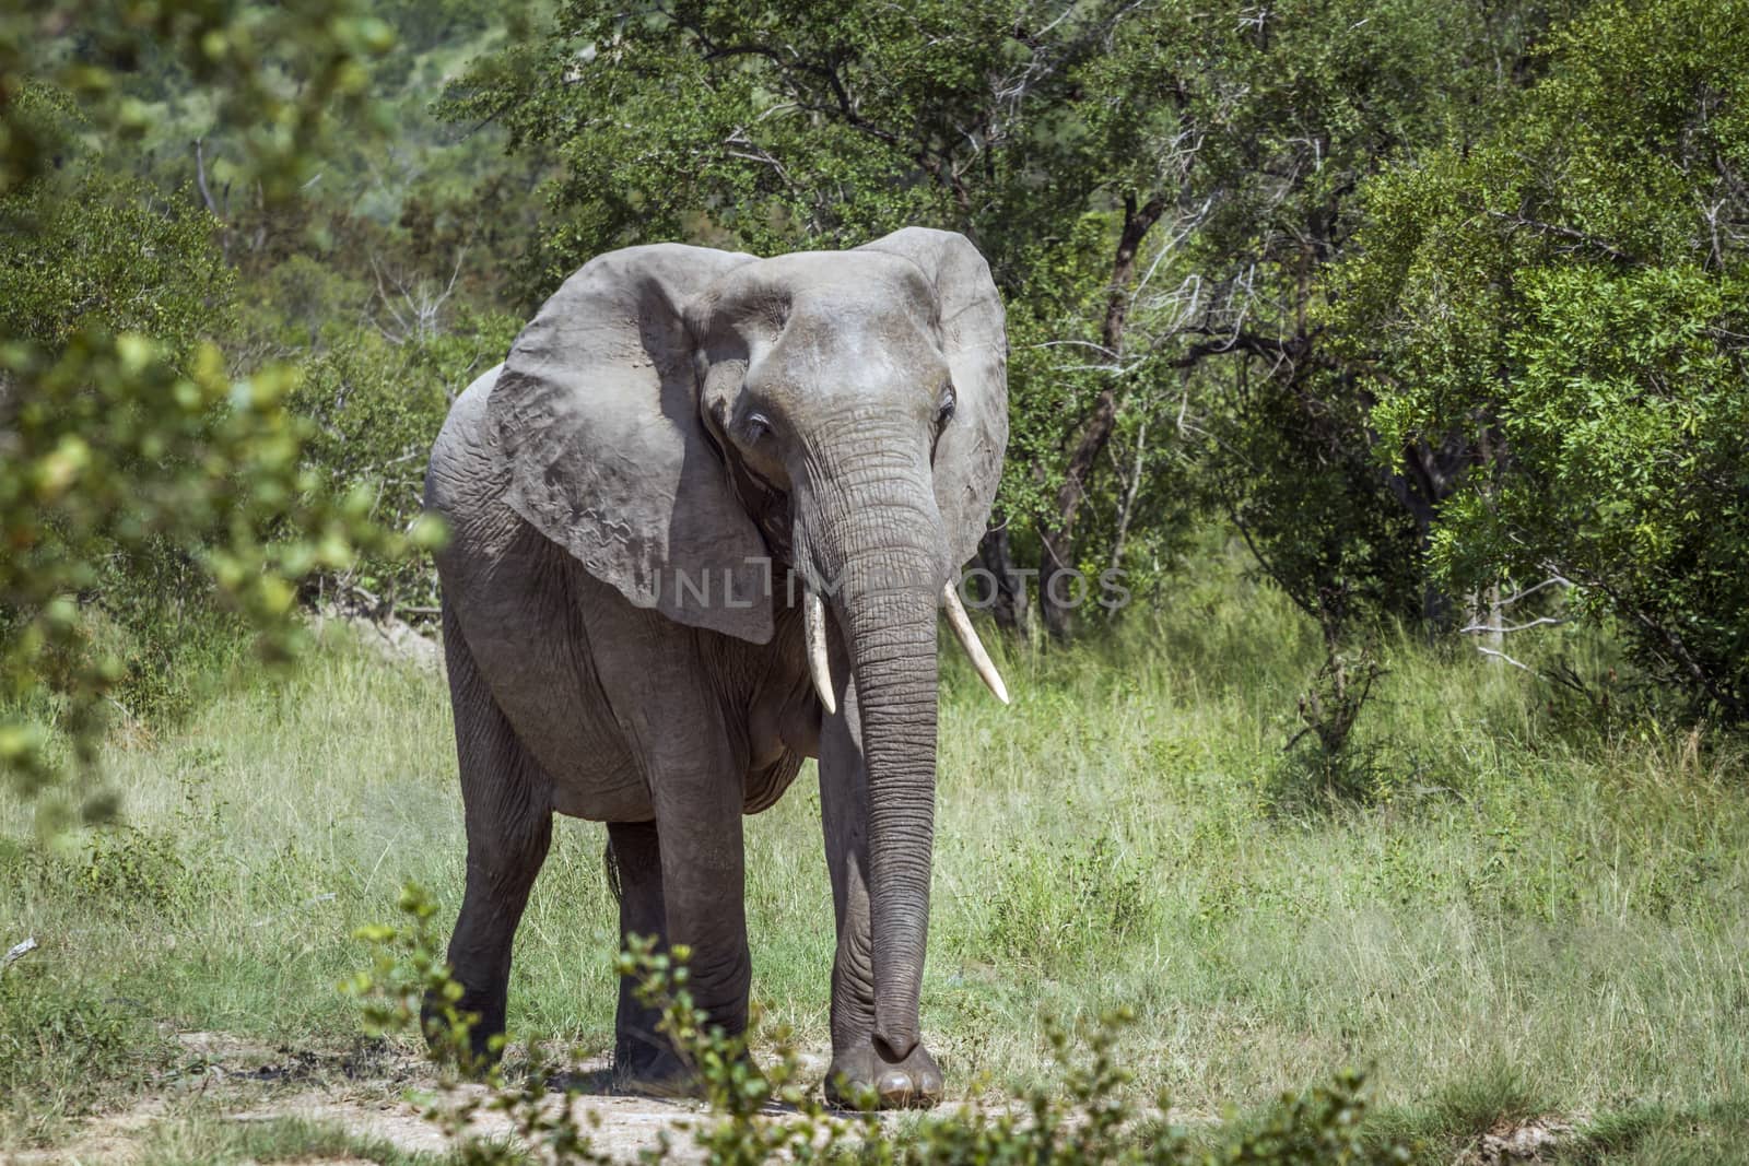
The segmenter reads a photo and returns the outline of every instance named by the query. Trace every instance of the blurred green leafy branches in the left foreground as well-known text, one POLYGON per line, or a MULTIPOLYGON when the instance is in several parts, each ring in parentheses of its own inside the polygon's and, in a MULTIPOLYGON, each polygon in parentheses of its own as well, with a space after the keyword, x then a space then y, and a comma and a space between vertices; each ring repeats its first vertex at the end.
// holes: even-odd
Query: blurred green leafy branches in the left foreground
MULTIPOLYGON (((348 0, 63 0, 0 17, 0 769, 26 794, 93 773, 124 661, 87 608, 117 561, 184 563, 285 656, 296 580, 397 540, 366 521, 367 495, 336 498, 303 465, 296 374, 226 367, 231 281, 210 224, 105 173, 150 121, 117 79, 173 56, 273 199, 390 40, 348 0)), ((63 809, 75 794, 86 815, 112 808, 89 781, 63 792, 63 809)))

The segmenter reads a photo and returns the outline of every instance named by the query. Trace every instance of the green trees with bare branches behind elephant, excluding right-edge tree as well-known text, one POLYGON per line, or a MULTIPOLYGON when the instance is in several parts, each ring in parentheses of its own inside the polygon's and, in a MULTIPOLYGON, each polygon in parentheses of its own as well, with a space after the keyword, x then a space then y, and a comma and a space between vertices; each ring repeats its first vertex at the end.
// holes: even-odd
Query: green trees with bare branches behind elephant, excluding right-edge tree
POLYGON ((1000 575, 1170 552, 1212 458, 1209 496, 1308 607, 1354 575, 1413 603, 1417 526, 1368 400, 1327 374, 1317 273, 1352 238, 1357 184, 1492 110, 1544 21, 1480 0, 572 0, 446 110, 560 159, 547 285, 658 238, 969 234, 1011 318, 1000 575), (1331 503, 1308 523, 1298 498, 1331 503), (1294 542, 1308 528, 1338 551, 1294 542))

